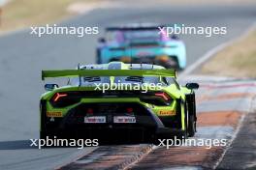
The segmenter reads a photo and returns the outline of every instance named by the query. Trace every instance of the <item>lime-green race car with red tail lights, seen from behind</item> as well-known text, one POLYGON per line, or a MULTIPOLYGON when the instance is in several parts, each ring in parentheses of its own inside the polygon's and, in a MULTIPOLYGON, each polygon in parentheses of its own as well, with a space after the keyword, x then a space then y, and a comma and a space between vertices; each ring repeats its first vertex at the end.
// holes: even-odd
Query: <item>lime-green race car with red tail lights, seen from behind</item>
POLYGON ((68 77, 46 84, 40 102, 40 136, 144 142, 196 132, 197 83, 180 86, 176 71, 149 64, 112 62, 77 70, 42 71, 68 77), (117 139, 116 139, 117 138, 117 139))

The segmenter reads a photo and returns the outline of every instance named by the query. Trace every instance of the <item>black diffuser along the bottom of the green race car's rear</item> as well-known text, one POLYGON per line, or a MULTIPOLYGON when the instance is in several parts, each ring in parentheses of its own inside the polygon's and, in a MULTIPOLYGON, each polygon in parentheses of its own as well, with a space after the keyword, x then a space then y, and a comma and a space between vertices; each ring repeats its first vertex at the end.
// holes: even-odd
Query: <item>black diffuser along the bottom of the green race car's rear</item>
MULTIPOLYGON (((45 131, 46 133, 46 131, 45 131)), ((99 144, 157 143, 158 139, 181 138, 184 131, 174 128, 86 128, 47 131, 49 138, 98 139, 99 144)))

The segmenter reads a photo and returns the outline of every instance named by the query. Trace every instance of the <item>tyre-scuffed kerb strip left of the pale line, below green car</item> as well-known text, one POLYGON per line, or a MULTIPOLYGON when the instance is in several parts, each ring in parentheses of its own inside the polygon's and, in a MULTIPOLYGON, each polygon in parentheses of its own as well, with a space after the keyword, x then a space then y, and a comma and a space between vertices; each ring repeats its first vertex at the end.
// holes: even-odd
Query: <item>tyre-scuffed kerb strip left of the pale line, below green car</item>
POLYGON ((124 169, 146 156, 152 145, 130 145, 130 146, 102 146, 89 155, 82 156, 77 161, 59 168, 70 169, 124 169))

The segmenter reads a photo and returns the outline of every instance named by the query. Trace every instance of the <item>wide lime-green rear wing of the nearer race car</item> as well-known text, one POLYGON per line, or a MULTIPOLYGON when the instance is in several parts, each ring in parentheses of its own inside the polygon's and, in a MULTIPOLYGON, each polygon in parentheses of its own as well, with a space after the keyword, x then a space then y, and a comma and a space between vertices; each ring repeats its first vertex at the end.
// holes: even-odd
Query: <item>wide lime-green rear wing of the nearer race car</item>
POLYGON ((42 80, 48 77, 74 76, 167 76, 175 77, 175 70, 61 70, 42 71, 42 80))

